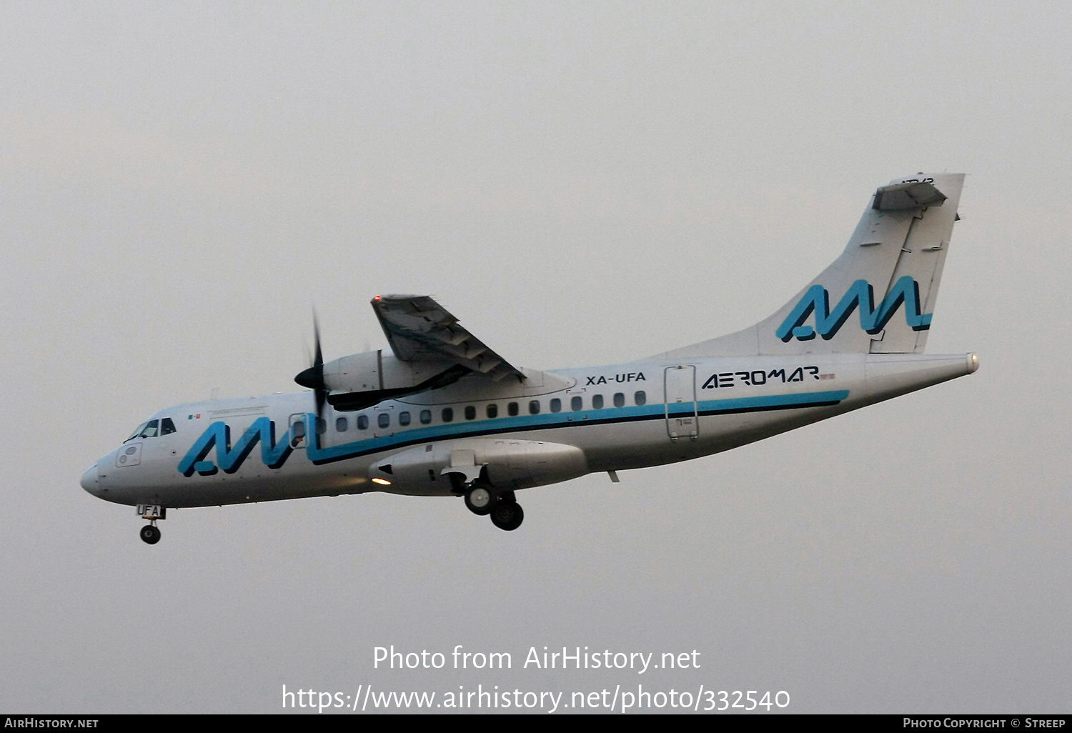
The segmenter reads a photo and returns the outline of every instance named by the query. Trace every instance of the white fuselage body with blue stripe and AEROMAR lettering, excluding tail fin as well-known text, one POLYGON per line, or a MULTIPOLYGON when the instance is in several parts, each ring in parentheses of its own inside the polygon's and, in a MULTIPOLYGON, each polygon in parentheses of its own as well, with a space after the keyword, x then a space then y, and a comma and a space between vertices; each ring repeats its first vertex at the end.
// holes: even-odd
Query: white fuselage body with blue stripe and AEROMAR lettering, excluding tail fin
POLYGON ((81 483, 109 502, 170 508, 452 495, 451 467, 524 489, 717 453, 976 366, 973 355, 805 354, 473 376, 358 412, 326 407, 319 430, 309 391, 213 400, 159 412, 174 432, 129 439, 81 483))

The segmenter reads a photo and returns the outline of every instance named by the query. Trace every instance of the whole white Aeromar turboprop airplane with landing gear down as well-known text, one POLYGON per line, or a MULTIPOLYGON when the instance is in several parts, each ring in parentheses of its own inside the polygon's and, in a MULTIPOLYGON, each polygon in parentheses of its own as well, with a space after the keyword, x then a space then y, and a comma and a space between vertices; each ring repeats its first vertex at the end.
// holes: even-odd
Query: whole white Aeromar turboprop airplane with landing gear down
MULTIPOLYGON (((167 509, 383 491, 455 496, 513 530, 517 492, 698 459, 974 372, 926 355, 963 174, 878 188, 833 264, 769 318, 639 361, 516 366, 428 296, 372 299, 390 350, 313 363, 286 394, 155 413, 81 477, 167 509)), ((315 324, 315 320, 314 320, 315 324)))

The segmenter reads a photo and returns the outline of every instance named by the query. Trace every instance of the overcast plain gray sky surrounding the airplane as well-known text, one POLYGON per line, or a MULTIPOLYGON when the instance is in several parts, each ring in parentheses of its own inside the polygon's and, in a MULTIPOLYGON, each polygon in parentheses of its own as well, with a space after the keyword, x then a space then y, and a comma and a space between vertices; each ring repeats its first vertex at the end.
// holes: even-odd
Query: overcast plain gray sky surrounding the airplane
POLYGON ((786 690, 1068 712, 1067 3, 0 3, 0 710, 287 689, 786 690), (147 415, 296 388, 428 293, 513 363, 769 315, 876 185, 967 173, 928 350, 967 378, 524 492, 173 512, 78 487, 147 415), (18 430, 14 430, 18 428, 18 430), (373 647, 510 652, 391 673, 373 647), (701 669, 519 669, 531 646, 701 669), (649 687, 651 686, 651 687, 649 687))

